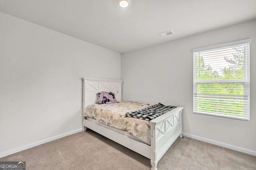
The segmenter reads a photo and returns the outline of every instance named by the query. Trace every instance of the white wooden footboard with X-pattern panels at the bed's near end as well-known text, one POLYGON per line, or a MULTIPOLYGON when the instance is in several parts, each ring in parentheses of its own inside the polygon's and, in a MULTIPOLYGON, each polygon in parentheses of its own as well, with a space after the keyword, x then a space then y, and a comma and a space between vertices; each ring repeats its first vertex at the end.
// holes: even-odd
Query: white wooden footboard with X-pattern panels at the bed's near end
POLYGON ((151 165, 156 170, 158 161, 174 141, 182 135, 181 113, 184 107, 177 107, 152 121, 151 126, 151 165))

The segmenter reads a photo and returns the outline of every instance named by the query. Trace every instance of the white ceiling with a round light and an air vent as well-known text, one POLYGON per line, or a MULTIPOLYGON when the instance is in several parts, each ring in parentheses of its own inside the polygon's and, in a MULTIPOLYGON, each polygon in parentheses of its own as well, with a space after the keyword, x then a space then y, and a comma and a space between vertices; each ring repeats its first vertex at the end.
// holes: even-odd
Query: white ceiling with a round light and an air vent
POLYGON ((256 0, 130 0, 128 8, 117 2, 0 0, 0 12, 119 53, 256 19, 256 0))

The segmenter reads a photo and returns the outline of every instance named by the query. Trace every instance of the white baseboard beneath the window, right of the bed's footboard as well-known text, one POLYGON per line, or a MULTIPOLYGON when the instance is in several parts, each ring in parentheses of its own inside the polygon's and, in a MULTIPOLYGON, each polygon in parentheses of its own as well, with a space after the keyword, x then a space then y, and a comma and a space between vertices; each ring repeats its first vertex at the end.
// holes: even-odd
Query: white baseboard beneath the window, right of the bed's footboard
POLYGON ((239 152, 243 152, 243 153, 246 153, 246 154, 251 154, 251 155, 256 156, 256 151, 254 151, 254 150, 249 150, 249 149, 245 149, 245 148, 241 148, 241 147, 236 147, 234 145, 229 145, 227 143, 222 143, 222 142, 214 141, 214 140, 211 140, 211 139, 206 139, 206 138, 199 137, 199 136, 196 136, 196 135, 191 135, 191 134, 188 134, 188 133, 182 133, 182 135, 184 137, 189 137, 189 138, 192 138, 192 139, 196 139, 198 141, 203 141, 203 142, 210 143, 210 144, 213 144, 213 145, 217 145, 217 146, 220 146, 220 147, 224 147, 224 148, 228 148, 228 149, 232 149, 232 150, 236 150, 236 151, 239 151, 239 152))

